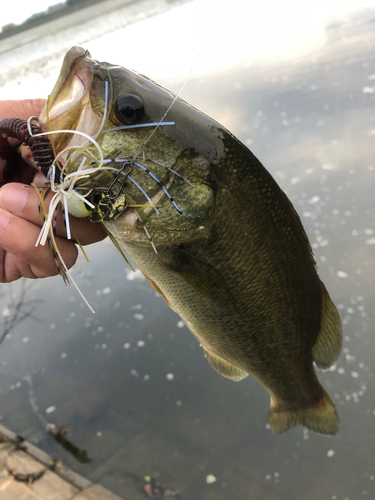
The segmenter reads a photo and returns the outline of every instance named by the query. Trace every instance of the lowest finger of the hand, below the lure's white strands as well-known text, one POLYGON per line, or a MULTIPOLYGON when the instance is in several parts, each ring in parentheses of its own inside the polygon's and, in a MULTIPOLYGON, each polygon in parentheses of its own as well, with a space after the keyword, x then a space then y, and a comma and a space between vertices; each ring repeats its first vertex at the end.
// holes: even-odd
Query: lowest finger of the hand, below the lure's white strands
MULTIPOLYGON (((0 247, 6 252, 2 253, 0 281, 7 283, 20 276, 44 278, 58 274, 49 244, 35 247, 39 231, 39 226, 0 210, 0 247)), ((56 244, 66 266, 70 268, 77 259, 76 245, 59 237, 56 244)))

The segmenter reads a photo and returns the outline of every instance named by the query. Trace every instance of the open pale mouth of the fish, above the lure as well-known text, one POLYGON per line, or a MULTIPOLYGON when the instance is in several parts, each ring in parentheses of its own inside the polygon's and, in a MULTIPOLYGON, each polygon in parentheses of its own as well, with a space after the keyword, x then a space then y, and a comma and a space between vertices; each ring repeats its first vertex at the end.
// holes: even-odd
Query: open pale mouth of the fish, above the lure
MULTIPOLYGON (((93 111, 90 100, 95 63, 82 47, 72 47, 67 52, 59 78, 39 117, 43 130, 77 130, 89 136, 96 133, 102 118, 93 111)), ((87 143, 85 137, 66 132, 51 135, 50 139, 56 154, 68 146, 87 143)), ((68 151, 60 155, 59 161, 64 163, 67 154, 68 151)))

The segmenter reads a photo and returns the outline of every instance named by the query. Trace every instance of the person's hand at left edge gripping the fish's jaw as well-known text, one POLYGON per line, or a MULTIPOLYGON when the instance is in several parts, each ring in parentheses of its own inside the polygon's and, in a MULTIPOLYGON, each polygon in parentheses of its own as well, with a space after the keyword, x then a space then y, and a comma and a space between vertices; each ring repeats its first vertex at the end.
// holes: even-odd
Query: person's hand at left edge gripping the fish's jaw
MULTIPOLYGON (((44 106, 43 99, 21 101, 0 101, 0 120, 8 117, 27 119, 39 116, 44 106)), ((13 145, 15 142, 9 139, 13 145)), ((3 154, 3 156, 7 156, 3 154)), ((17 159, 18 161, 19 159, 17 159)), ((0 282, 9 283, 18 278, 45 278, 58 274, 56 263, 48 243, 35 247, 42 222, 39 215, 38 193, 31 187, 34 182, 43 185, 47 179, 25 161, 14 165, 12 160, 0 158, 0 282), (6 171, 4 171, 6 165, 6 171)), ((52 195, 47 198, 46 205, 52 195)), ((100 224, 93 224, 87 218, 69 217, 72 232, 81 245, 88 245, 106 237, 100 224)), ((78 249, 72 240, 66 239, 63 218, 57 218, 56 243, 68 268, 78 256, 78 249)))

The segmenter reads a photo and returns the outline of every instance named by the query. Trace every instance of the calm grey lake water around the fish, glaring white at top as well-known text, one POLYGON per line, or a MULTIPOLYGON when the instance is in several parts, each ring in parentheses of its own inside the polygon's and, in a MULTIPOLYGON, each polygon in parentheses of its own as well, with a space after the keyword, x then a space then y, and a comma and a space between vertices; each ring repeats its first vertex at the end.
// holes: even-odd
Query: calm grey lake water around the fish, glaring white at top
POLYGON ((145 498, 146 475, 183 500, 372 499, 375 5, 244 4, 111 0, 8 38, 1 98, 47 97, 74 44, 174 92, 193 68, 182 98, 248 145, 287 192, 338 306, 343 352, 319 372, 338 434, 274 435, 266 391, 214 372, 108 241, 74 268, 94 315, 58 277, 1 285, 1 422, 125 500, 145 498), (68 426, 91 461, 61 448, 40 415, 68 426))

